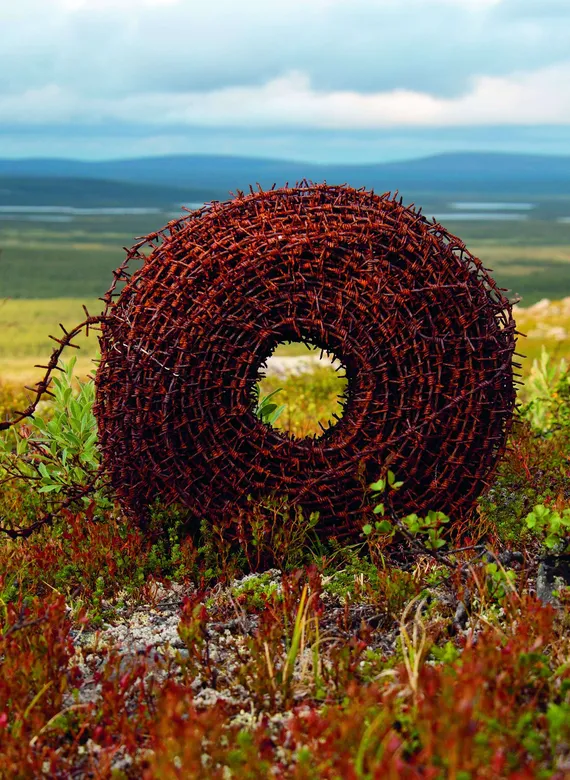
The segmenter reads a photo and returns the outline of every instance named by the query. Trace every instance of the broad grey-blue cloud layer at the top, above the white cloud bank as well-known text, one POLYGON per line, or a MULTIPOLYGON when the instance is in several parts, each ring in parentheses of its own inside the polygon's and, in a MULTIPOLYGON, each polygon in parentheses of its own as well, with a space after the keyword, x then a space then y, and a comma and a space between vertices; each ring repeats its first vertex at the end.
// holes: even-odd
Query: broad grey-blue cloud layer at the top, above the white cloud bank
POLYGON ((14 0, 0 3, 0 29, 0 93, 186 95, 261 88, 296 71, 318 92, 450 98, 476 76, 567 57, 570 3, 14 0))

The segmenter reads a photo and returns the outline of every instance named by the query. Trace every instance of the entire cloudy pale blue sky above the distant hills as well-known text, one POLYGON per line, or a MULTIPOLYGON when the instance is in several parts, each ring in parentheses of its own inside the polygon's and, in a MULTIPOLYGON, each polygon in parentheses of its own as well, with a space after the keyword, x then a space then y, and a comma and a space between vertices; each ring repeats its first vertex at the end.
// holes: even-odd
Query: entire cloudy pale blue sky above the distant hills
POLYGON ((0 0, 0 157, 570 154, 570 0, 0 0))

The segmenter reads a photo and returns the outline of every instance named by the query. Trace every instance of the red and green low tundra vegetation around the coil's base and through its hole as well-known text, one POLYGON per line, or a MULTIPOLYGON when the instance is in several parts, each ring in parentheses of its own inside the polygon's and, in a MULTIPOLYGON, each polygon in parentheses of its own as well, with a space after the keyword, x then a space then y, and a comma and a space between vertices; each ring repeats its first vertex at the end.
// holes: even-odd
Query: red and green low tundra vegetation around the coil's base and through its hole
MULTIPOLYGON (((378 464, 350 544, 281 495, 232 534, 160 505, 141 532, 103 481, 81 489, 92 378, 56 379, 2 435, 1 777, 568 776, 565 363, 534 362, 469 522, 393 516, 406 475, 378 464)), ((268 378, 257 412, 310 435, 337 380, 268 378)), ((0 414, 21 395, 2 384, 0 414)))

